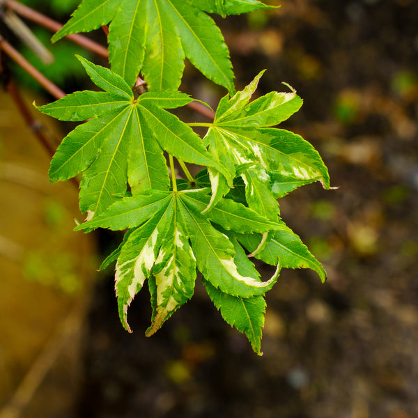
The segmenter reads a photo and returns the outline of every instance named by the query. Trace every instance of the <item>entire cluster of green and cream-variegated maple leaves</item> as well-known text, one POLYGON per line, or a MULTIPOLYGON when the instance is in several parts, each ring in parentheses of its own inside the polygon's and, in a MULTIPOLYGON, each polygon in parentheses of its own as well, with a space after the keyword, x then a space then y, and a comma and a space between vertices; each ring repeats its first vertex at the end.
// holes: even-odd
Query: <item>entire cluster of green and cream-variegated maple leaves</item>
POLYGON ((271 6, 256 0, 84 0, 54 36, 110 22, 111 69, 78 57, 102 91, 79 91, 38 109, 62 121, 86 121, 63 139, 49 177, 82 173, 79 206, 88 217, 76 231, 125 231, 102 268, 116 262, 118 311, 129 332, 127 309, 147 279, 149 336, 192 297, 199 271, 224 320, 261 354, 265 293, 281 268, 310 268, 325 281, 322 265, 279 217, 277 199, 293 189, 314 181, 330 188, 311 144, 275 127, 302 100, 284 87, 289 91, 251 101, 263 72, 235 92, 228 49, 206 14, 262 8, 271 6), (193 100, 177 90, 185 56, 229 91, 212 123, 187 124, 167 110, 193 100), (136 97, 139 72, 149 91, 136 97), (208 127, 203 139, 192 130, 199 125, 208 127), (184 179, 176 178, 174 158, 184 179), (193 177, 185 163, 206 168, 193 177), (270 279, 261 280, 252 257, 275 266, 270 279))

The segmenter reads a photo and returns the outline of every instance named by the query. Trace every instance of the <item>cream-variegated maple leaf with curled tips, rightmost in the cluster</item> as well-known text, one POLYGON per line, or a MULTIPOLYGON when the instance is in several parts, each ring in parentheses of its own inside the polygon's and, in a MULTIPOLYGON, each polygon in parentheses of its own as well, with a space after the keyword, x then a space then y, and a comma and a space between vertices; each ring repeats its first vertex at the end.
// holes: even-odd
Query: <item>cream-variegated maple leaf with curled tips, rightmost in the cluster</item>
MULTIPOLYGON (((242 177, 249 206, 276 219, 277 198, 316 180, 330 188, 330 178, 311 144, 297 134, 272 127, 302 105, 295 91, 273 91, 249 102, 262 74, 232 98, 222 98, 205 141, 230 177, 242 177)), ((216 169, 209 169, 209 175, 214 190, 211 204, 216 204, 229 192, 229 184, 216 169)))

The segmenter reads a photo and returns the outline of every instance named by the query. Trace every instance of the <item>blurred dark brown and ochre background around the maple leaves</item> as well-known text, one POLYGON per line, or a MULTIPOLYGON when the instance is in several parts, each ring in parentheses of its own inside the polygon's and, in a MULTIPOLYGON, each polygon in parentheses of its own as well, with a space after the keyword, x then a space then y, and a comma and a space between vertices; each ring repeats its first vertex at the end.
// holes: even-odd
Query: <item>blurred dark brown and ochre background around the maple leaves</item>
MULTIPOLYGON (((24 3, 65 22, 78 1, 24 3)), ((200 285, 150 339, 144 288, 127 334, 111 269, 95 273, 121 237, 72 231, 77 189, 49 184, 49 155, 1 92, 1 418, 418 417, 418 2, 280 3, 215 19, 237 88, 267 68, 259 95, 287 82, 304 99, 284 127, 316 147, 339 188, 315 183, 279 203, 327 282, 282 272, 267 295, 263 357, 200 285)), ((70 42, 51 50, 48 77, 63 76, 54 82, 67 93, 90 87, 70 42)), ((8 68, 29 103, 52 100, 8 68)), ((225 94, 190 65, 181 89, 214 106, 225 94)), ((70 128, 36 118, 55 144, 70 128)))

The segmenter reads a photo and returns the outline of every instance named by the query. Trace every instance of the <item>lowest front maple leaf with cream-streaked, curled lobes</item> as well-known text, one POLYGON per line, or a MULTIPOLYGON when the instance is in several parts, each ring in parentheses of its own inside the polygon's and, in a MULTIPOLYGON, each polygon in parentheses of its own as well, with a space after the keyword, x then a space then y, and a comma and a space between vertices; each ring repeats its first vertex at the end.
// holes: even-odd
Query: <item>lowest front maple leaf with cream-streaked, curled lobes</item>
MULTIPOLYGON (((127 308, 146 279, 150 279, 153 304, 148 335, 192 297, 196 268, 210 284, 211 297, 217 291, 240 300, 262 297, 276 281, 279 269, 274 277, 262 282, 242 247, 222 231, 264 233, 281 226, 229 199, 222 199, 202 215, 209 201, 210 189, 148 190, 116 201, 101 215, 77 226, 76 230, 130 229, 121 247, 111 255, 111 259, 117 258, 115 288, 119 316, 126 330, 130 330, 127 308)), ((239 312, 236 314, 240 316, 239 312)), ((238 327, 244 332, 246 329, 238 327)), ((258 331, 254 332, 250 341, 256 345, 258 331)))

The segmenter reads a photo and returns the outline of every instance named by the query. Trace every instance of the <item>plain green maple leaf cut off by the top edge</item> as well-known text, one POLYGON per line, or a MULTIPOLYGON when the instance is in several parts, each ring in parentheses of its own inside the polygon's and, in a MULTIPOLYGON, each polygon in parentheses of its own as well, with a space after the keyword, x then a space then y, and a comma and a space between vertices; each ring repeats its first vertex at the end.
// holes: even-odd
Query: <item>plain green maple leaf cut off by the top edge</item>
POLYGON ((177 90, 186 57, 233 93, 228 47, 203 10, 231 15, 261 8, 270 7, 254 0, 84 0, 52 40, 111 22, 111 68, 130 86, 141 70, 151 90, 177 90))

